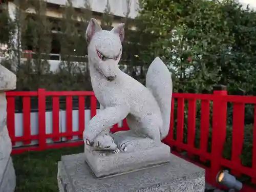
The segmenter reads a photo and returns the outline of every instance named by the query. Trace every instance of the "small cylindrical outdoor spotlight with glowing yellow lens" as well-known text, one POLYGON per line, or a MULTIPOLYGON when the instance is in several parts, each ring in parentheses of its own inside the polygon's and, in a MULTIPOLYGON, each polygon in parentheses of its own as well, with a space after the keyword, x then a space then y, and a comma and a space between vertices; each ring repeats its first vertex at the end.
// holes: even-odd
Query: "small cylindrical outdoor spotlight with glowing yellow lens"
POLYGON ((241 190, 243 184, 238 181, 234 176, 228 173, 228 170, 221 170, 216 178, 217 182, 229 189, 241 190))

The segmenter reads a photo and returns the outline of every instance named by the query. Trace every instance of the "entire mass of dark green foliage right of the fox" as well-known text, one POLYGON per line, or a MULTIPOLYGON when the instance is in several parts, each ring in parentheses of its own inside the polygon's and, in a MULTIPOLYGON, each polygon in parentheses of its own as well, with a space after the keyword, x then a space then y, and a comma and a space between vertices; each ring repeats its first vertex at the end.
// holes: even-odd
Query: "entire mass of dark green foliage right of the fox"
POLYGON ((201 93, 221 83, 230 94, 239 88, 255 93, 255 11, 236 0, 141 0, 140 6, 140 57, 148 66, 161 56, 173 71, 175 91, 201 93))

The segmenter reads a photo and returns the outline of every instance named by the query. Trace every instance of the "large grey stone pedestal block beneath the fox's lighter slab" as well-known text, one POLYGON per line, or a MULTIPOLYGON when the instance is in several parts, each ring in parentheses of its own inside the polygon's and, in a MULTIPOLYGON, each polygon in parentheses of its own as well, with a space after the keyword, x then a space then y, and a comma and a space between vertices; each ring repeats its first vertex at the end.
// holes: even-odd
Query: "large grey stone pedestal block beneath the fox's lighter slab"
POLYGON ((205 170, 170 154, 168 163, 134 172, 96 178, 84 160, 84 154, 63 156, 58 162, 59 191, 203 192, 205 170))

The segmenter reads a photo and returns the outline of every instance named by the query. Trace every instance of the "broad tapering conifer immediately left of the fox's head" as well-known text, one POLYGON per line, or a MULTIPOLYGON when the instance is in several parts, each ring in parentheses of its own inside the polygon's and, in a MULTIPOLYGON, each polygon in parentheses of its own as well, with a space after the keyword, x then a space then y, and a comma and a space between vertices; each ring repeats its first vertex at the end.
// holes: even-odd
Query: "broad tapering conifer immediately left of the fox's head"
MULTIPOLYGON (((89 5, 85 4, 85 6, 89 5)), ((61 62, 57 72, 58 90, 90 90, 89 71, 85 57, 87 44, 85 35, 83 35, 85 29, 81 29, 86 20, 86 16, 76 13, 72 1, 68 0, 66 7, 63 8, 63 18, 60 22, 61 62)))

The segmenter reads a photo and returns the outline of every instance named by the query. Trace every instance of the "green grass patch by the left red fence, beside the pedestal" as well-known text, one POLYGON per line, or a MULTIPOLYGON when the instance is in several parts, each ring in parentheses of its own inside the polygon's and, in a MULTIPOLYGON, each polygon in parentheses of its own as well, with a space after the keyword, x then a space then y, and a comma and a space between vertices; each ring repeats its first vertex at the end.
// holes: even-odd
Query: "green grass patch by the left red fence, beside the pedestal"
POLYGON ((62 155, 83 153, 83 145, 13 155, 15 192, 57 192, 57 162, 62 155))

